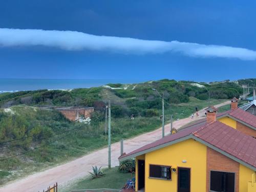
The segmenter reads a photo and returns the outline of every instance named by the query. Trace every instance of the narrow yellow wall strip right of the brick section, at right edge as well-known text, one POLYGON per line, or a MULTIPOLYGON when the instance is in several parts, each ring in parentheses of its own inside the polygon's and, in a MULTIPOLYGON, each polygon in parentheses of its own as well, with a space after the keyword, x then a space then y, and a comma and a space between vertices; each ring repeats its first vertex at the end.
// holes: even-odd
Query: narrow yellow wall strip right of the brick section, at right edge
MULTIPOLYGON (((253 174, 253 170, 245 167, 240 164, 239 167, 239 191, 248 191, 248 182, 251 181, 251 175, 253 174)), ((255 189, 256 189, 256 183, 255 189)))

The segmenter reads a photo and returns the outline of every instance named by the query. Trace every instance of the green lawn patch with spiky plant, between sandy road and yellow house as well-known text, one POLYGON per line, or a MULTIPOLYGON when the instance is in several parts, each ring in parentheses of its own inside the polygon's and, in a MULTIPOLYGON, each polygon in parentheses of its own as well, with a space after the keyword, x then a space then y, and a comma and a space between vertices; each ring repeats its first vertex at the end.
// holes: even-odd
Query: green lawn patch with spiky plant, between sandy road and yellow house
POLYGON ((95 188, 110 188, 110 189, 121 189, 127 180, 135 177, 131 173, 121 173, 118 168, 103 169, 105 176, 102 178, 91 179, 86 177, 84 179, 78 180, 72 183, 68 187, 60 187, 60 191, 69 192, 71 190, 78 189, 95 189, 95 188))

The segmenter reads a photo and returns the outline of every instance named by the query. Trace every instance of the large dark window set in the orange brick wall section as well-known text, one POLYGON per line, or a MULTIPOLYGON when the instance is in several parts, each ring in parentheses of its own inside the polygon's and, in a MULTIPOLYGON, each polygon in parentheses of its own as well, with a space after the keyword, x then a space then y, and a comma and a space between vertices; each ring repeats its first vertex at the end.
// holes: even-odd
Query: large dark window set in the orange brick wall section
POLYGON ((234 192, 234 173, 210 172, 210 191, 234 192))

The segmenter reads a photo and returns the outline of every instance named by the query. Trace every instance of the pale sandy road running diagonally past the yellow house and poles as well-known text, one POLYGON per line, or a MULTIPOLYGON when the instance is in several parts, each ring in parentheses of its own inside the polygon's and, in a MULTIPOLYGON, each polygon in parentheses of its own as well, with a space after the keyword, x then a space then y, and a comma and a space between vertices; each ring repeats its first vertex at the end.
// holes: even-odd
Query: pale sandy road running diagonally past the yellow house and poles
MULTIPOLYGON (((217 108, 219 106, 230 103, 226 101, 221 104, 215 105, 217 108)), ((205 111, 199 111, 200 117, 191 119, 190 117, 176 120, 173 125, 178 129, 179 127, 198 119, 205 117, 205 111)), ((165 134, 169 134, 170 124, 165 125, 165 134)), ((143 135, 137 136, 132 139, 124 141, 124 152, 129 153, 135 150, 138 147, 141 147, 145 144, 151 143, 157 139, 160 139, 162 136, 162 128, 159 128, 153 132, 145 133, 143 135)), ((112 166, 117 166, 118 157, 120 156, 120 143, 112 144, 112 166)), ((60 185, 65 185, 68 182, 84 177, 88 175, 88 172, 91 171, 92 165, 106 167, 108 166, 108 148, 103 148, 102 150, 95 151, 91 154, 73 160, 69 163, 58 165, 56 167, 45 170, 44 172, 39 172, 33 175, 30 175, 26 178, 14 181, 8 185, 5 185, 0 188, 0 191, 19 191, 19 192, 37 192, 47 189, 47 186, 53 185, 55 182, 58 182, 60 185)))

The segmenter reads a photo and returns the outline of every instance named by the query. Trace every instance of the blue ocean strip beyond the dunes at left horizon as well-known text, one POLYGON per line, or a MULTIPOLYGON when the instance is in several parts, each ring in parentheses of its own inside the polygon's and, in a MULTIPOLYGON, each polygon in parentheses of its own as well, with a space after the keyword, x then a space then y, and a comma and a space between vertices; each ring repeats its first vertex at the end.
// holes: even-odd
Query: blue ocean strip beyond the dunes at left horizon
POLYGON ((99 87, 108 83, 136 83, 125 79, 0 79, 0 93, 28 90, 71 90, 99 87))

